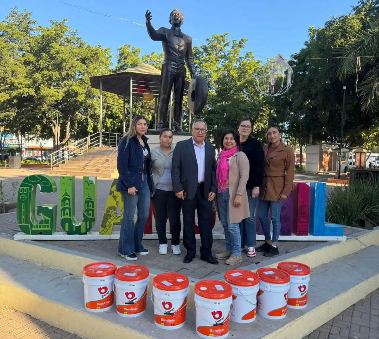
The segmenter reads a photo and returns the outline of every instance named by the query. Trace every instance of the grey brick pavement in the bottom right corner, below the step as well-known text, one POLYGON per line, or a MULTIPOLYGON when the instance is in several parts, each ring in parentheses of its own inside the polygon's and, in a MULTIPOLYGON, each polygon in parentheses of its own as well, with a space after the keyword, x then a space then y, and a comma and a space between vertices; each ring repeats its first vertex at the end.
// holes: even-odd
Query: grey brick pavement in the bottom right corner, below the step
POLYGON ((379 339, 379 289, 303 339, 379 339))

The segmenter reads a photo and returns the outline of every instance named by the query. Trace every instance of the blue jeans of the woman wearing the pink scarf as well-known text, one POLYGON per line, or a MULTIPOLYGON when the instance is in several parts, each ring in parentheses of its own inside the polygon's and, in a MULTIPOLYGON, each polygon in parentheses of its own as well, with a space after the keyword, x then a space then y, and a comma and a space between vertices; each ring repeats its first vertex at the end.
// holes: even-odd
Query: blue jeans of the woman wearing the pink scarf
POLYGON ((241 255, 241 232, 240 224, 229 222, 229 190, 217 194, 218 211, 220 221, 224 227, 226 250, 235 256, 241 255))

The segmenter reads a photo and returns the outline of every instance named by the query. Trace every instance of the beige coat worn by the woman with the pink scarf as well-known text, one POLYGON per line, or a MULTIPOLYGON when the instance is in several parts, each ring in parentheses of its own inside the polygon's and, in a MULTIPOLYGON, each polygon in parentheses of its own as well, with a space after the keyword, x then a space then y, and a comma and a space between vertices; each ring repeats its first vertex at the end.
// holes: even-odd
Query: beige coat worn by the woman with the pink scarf
MULTIPOLYGON (((229 223, 239 223, 250 217, 246 183, 249 179, 249 160, 244 152, 236 152, 229 162, 229 223), (240 207, 234 207, 236 195, 242 195, 240 207)), ((222 194, 222 193, 218 193, 222 194)), ((220 214, 218 213, 220 219, 220 214)), ((221 219, 220 219, 221 220, 221 219)))

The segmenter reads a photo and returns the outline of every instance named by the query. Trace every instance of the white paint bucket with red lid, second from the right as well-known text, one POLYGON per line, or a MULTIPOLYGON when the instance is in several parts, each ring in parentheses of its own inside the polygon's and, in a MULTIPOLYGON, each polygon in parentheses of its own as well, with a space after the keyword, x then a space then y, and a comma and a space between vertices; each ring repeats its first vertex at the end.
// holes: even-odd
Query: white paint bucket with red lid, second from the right
POLYGON ((277 268, 259 268, 258 314, 267 319, 283 319, 287 314, 290 275, 277 268))

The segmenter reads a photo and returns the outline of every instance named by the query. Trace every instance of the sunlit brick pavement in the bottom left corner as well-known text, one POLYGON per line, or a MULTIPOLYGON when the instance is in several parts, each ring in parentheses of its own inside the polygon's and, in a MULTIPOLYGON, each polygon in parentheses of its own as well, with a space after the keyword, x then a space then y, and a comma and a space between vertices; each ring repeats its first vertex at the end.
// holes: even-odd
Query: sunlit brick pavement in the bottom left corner
POLYGON ((0 304, 1 339, 83 339, 0 304))

